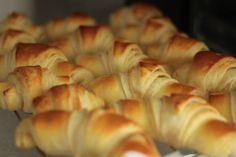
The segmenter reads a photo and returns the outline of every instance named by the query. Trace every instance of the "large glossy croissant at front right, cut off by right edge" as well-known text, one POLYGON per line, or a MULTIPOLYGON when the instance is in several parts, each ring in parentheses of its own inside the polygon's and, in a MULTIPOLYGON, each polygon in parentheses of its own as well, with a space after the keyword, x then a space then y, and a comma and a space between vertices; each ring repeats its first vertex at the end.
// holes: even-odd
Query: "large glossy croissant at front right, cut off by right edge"
POLYGON ((210 156, 236 152, 235 126, 200 97, 174 94, 161 100, 148 98, 143 103, 122 100, 114 106, 120 114, 142 124, 158 141, 210 156))

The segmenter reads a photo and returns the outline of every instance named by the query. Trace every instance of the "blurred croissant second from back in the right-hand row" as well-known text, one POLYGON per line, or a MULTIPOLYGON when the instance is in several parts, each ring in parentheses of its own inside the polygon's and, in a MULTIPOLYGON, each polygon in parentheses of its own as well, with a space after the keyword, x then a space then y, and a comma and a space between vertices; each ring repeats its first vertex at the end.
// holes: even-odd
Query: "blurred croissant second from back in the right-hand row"
POLYGON ((144 24, 130 24, 116 33, 116 36, 139 43, 143 48, 147 45, 165 43, 177 32, 174 24, 167 17, 151 17, 144 24))

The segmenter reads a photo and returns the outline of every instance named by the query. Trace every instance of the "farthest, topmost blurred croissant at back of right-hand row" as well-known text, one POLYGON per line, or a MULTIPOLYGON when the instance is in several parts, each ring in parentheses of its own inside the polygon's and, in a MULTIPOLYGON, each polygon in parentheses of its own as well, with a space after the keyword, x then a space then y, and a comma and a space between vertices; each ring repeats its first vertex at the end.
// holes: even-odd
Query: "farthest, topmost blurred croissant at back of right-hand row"
POLYGON ((115 10, 110 16, 110 25, 116 34, 128 25, 145 23, 151 17, 162 16, 161 11, 146 3, 134 3, 115 10))

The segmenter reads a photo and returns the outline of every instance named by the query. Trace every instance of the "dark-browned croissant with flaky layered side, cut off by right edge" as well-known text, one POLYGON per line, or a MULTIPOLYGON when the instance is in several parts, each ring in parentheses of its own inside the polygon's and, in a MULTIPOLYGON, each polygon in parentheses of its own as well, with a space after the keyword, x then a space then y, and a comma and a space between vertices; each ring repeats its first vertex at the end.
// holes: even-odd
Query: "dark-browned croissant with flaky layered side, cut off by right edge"
POLYGON ((236 59, 211 51, 196 54, 192 63, 175 72, 175 77, 208 92, 229 92, 236 88, 236 59), (186 79, 183 79, 186 78, 186 79))

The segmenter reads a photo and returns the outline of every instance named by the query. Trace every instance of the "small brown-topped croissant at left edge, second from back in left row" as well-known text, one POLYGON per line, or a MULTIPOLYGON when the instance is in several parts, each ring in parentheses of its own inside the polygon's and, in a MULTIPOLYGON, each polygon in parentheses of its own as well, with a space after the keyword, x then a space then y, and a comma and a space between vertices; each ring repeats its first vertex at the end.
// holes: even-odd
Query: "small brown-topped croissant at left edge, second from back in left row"
POLYGON ((18 43, 35 43, 35 39, 28 33, 9 29, 0 34, 0 55, 13 51, 18 43))

